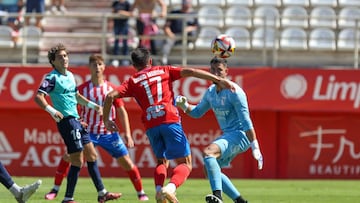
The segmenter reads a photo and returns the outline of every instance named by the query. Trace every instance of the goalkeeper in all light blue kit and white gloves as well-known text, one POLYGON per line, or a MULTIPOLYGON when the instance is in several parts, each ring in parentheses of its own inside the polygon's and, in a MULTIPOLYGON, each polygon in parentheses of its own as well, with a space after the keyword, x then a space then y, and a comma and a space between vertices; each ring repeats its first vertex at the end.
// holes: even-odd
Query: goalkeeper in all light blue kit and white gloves
MULTIPOLYGON (((210 62, 210 72, 226 78, 228 73, 226 59, 214 57, 210 62)), ((194 118, 202 117, 212 109, 223 132, 204 149, 204 165, 213 194, 206 196, 207 203, 222 203, 222 191, 234 203, 246 203, 240 192, 230 179, 221 172, 240 153, 252 149, 254 158, 258 161, 258 169, 262 169, 263 157, 250 118, 245 92, 236 83, 234 89, 222 89, 212 84, 197 105, 191 105, 186 97, 178 96, 176 105, 194 118)))

